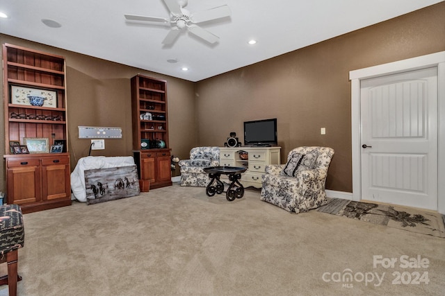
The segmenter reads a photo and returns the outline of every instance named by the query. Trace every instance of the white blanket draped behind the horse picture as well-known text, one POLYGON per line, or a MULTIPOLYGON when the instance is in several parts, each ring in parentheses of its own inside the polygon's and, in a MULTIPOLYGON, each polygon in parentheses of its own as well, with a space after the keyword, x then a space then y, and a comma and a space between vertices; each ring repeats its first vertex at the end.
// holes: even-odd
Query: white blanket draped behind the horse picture
MULTIPOLYGON (((85 174, 86 170, 95 168, 117 168, 119 166, 133 166, 134 159, 131 156, 88 156, 82 157, 77 162, 71 173, 71 190, 76 200, 86 202, 85 174)), ((72 200, 74 200, 72 198, 72 200)))

